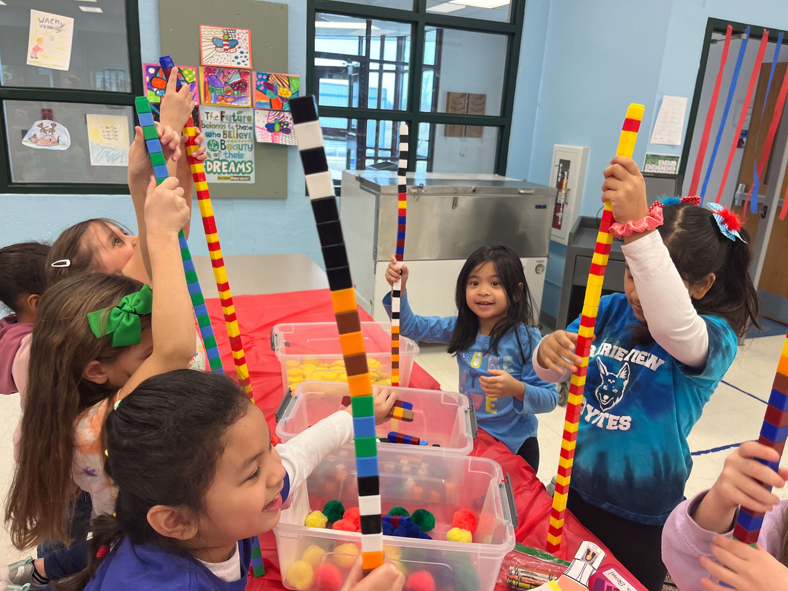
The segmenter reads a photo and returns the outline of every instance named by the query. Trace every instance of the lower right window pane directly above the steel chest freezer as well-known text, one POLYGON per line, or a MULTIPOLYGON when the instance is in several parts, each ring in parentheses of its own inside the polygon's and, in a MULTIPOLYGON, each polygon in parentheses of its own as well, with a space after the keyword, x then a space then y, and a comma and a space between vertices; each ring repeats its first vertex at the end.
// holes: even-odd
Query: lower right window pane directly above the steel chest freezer
POLYGON ((497 147, 496 127, 418 125, 417 162, 430 173, 495 173, 497 147))

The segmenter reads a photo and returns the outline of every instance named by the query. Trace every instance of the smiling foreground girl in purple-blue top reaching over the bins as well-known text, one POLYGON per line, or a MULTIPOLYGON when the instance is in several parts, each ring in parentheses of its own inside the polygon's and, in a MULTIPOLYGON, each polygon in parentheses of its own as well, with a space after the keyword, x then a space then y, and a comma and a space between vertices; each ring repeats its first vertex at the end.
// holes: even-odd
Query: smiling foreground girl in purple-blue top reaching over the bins
MULTIPOLYGON (((378 393, 378 423, 396 396, 378 393)), ((76 591, 245 589, 252 537, 277 525, 292 488, 353 437, 339 411, 273 447, 265 416, 228 378, 173 371, 151 377, 106 418, 106 472, 117 486, 114 514, 93 530, 76 591), (87 585, 87 586, 86 586, 87 585)), ((360 578, 360 564, 355 579, 360 578)), ((391 563, 344 589, 398 591, 391 563)))

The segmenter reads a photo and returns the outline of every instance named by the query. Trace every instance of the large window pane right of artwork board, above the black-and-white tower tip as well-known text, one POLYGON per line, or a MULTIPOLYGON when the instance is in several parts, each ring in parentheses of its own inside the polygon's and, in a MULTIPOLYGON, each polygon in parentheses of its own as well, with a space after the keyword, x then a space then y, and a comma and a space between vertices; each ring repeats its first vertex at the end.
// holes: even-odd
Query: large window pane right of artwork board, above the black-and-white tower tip
MULTIPOLYGON (((318 13, 315 35, 314 69, 320 80, 319 105, 385 110, 407 106, 410 56, 403 48, 410 47, 410 24, 318 13), (371 39, 370 51, 359 52, 367 34, 371 39), (382 64, 381 57, 385 59, 382 64), (339 89, 332 85, 340 83, 348 88, 353 84, 352 105, 348 105, 349 99, 341 104, 337 102, 339 89)), ((346 91, 341 96, 347 94, 346 91)))

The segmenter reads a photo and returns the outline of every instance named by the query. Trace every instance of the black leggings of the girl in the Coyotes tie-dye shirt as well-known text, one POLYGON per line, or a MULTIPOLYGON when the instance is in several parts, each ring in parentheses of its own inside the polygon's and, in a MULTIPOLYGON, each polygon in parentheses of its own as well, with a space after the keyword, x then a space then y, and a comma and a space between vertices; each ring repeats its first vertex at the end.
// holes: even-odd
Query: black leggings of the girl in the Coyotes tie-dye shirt
POLYGON ((624 519, 569 489, 567 508, 613 552, 613 556, 649 591, 662 591, 667 568, 662 563, 662 528, 624 519))

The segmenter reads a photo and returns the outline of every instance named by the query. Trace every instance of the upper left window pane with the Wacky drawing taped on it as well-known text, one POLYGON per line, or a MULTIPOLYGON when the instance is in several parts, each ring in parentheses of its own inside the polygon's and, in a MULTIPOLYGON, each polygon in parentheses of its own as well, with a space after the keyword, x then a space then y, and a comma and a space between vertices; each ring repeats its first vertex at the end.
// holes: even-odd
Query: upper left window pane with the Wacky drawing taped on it
MULTIPOLYGON (((0 71, 3 86, 69 88, 131 92, 126 39, 126 6, 102 2, 100 12, 80 10, 73 0, 4 2, 0 6, 0 71), (50 13, 58 22, 39 26, 38 41, 28 52, 31 18, 50 13), (71 20, 73 19, 73 20, 71 20), (72 30, 72 43, 64 31, 72 30), (55 27, 55 28, 52 28, 55 27)), ((88 5, 84 5, 88 6, 88 5)), ((35 20, 39 22, 38 19, 35 20)), ((137 24, 134 23, 136 27, 137 24)))

